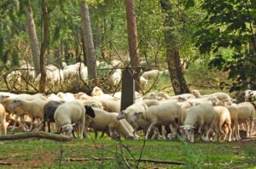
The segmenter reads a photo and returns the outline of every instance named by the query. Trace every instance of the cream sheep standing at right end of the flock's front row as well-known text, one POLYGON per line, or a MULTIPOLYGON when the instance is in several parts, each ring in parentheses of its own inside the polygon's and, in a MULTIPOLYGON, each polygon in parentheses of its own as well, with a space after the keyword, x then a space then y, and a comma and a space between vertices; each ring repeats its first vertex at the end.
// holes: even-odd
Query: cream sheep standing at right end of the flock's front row
POLYGON ((237 115, 237 124, 234 128, 236 132, 236 139, 240 138, 238 124, 244 122, 246 122, 247 125, 247 138, 251 137, 253 134, 253 119, 255 114, 253 104, 249 102, 243 102, 241 104, 233 104, 227 108, 230 110, 230 115, 231 113, 237 115))

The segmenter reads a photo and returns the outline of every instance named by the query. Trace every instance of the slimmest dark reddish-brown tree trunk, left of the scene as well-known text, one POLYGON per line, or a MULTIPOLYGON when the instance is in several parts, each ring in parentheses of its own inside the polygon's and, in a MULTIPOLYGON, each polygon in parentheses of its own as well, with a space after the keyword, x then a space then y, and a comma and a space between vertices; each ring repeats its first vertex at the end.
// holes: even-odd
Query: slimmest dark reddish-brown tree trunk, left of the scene
POLYGON ((45 51, 49 46, 49 20, 48 20, 48 9, 47 9, 47 0, 42 0, 42 12, 43 12, 43 37, 42 45, 40 51, 40 72, 41 79, 39 84, 39 93, 44 93, 45 90, 45 80, 46 72, 44 70, 44 55, 45 51))

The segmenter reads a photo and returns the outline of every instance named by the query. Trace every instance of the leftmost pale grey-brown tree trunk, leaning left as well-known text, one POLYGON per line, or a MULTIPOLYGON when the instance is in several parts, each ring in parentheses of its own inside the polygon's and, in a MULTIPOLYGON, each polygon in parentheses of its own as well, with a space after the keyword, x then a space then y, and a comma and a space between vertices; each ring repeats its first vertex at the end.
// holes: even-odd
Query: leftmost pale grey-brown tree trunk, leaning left
POLYGON ((36 76, 38 76, 40 72, 39 70, 40 49, 38 45, 38 36, 37 36, 36 25, 33 18, 30 0, 24 1, 24 10, 26 13, 27 31, 28 31, 30 47, 32 50, 33 65, 35 68, 35 74, 36 76))

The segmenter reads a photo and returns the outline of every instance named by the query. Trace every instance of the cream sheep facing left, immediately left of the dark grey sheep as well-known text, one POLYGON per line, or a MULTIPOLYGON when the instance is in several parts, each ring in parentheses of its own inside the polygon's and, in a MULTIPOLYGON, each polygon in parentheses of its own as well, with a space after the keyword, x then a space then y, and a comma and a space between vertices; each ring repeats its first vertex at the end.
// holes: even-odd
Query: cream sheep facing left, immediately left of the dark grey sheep
MULTIPOLYGON (((44 118, 44 104, 47 103, 47 100, 43 99, 13 99, 9 102, 9 108, 11 110, 15 110, 16 108, 20 108, 26 112, 26 115, 32 118, 32 122, 35 121, 36 118, 43 120, 44 118)), ((32 125, 29 128, 29 131, 32 130, 32 125)))

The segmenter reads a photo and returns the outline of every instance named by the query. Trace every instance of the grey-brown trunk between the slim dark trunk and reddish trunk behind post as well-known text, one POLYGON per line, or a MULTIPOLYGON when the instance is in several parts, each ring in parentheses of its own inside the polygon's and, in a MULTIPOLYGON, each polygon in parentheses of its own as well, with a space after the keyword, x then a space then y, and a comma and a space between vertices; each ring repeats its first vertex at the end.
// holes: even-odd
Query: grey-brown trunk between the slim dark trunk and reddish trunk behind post
POLYGON ((96 53, 93 43, 92 29, 90 25, 89 7, 85 1, 80 3, 80 13, 82 19, 82 31, 85 44, 86 63, 88 67, 88 78, 96 78, 96 53))

